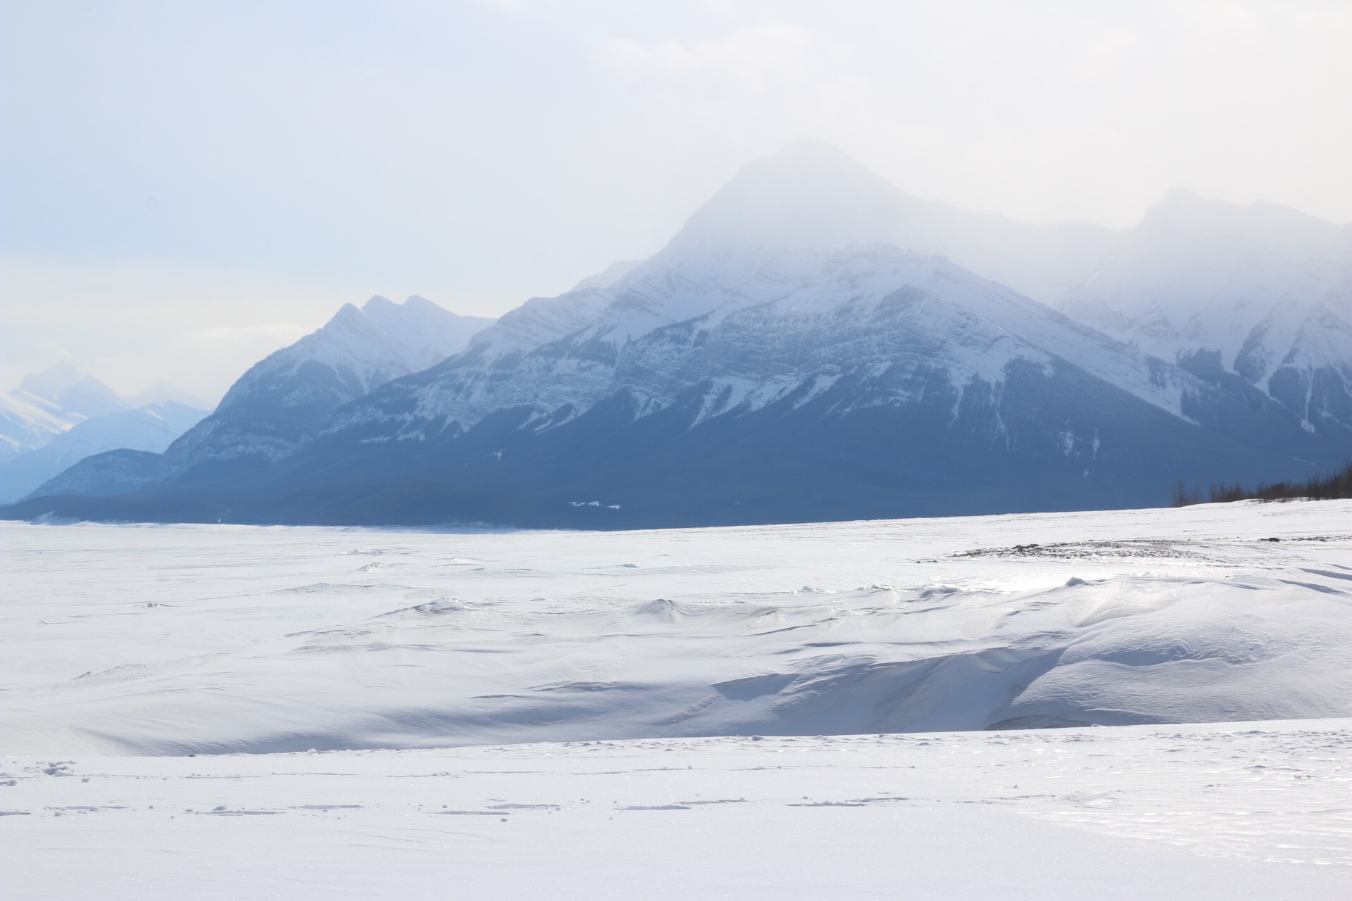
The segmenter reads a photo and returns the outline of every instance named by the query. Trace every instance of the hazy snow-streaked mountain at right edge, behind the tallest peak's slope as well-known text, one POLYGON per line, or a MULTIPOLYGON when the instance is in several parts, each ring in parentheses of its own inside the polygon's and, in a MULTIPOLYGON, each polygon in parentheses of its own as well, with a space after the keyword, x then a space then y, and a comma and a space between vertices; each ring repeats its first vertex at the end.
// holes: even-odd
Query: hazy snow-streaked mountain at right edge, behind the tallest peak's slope
POLYGON ((1172 190, 1059 307, 1352 436, 1352 226, 1172 190))

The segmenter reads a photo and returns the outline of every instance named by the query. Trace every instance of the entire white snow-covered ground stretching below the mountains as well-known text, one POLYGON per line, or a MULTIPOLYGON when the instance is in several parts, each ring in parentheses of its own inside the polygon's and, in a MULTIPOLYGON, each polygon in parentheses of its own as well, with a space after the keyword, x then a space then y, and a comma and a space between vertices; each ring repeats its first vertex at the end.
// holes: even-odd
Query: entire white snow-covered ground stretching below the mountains
POLYGON ((1352 883, 1349 503, 0 542, 11 897, 1352 883))

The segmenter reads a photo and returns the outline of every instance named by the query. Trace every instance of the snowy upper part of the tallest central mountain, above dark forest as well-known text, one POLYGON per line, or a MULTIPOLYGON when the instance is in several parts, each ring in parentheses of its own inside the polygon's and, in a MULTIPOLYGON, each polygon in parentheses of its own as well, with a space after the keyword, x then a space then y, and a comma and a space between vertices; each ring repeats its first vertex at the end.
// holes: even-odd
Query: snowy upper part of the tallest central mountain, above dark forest
MULTIPOLYGON (((652 411, 669 404, 691 380, 706 377, 744 389, 733 390, 722 409, 740 404, 754 409, 803 380, 817 378, 817 367, 823 365, 821 351, 826 357, 837 353, 840 365, 860 362, 853 349, 831 343, 831 331, 909 308, 909 303, 890 297, 883 303, 888 312, 879 312, 883 297, 902 286, 911 288, 915 297, 933 294, 941 305, 956 289, 957 303, 982 307, 977 317, 994 316, 996 330, 1017 331, 1022 315, 1038 335, 1034 344, 1044 343, 1041 332, 1051 330, 1053 344, 1068 340, 1073 346, 1069 353, 1086 365, 1106 367, 1114 380, 1128 380, 1141 396, 1157 397, 1178 412, 1178 392, 1164 400, 1138 357, 1124 362, 1119 349, 1099 347, 1103 336, 1092 330, 1075 328, 1041 304, 973 277, 976 272, 995 280, 987 273, 1002 270, 1000 261, 1023 266, 1006 273, 1006 284, 1052 284, 1048 270, 1063 278, 1073 278, 1067 274, 1071 270, 1083 277, 1111 238, 1107 230, 1090 226, 1025 226, 918 201, 838 150, 800 142, 746 166, 652 259, 618 263, 561 297, 534 299, 503 316, 475 338, 462 358, 448 362, 443 369, 453 370, 453 377, 429 374, 422 380, 430 380, 426 390, 410 388, 418 401, 408 417, 469 428, 496 409, 533 404, 538 416, 557 421, 560 415, 584 412, 619 388, 631 390, 642 409, 652 411), (1065 240, 1065 235, 1076 239, 1065 240), (1030 263, 1019 253, 1023 249, 1037 249, 1040 254, 1033 257, 1040 262, 1030 263), (941 251, 949 258, 926 258, 941 251), (987 300, 994 297, 1000 300, 987 300), (753 330, 760 332, 748 344, 750 353, 704 350, 711 335, 748 320, 754 320, 753 330), (672 350, 672 334, 660 331, 677 323, 685 332, 702 335, 695 359, 683 359, 683 351, 672 350), (791 361, 773 359, 777 346, 799 328, 808 357, 794 349, 791 361), (1079 353, 1086 343, 1088 353, 1079 353), (671 371, 669 363, 684 369, 671 371), (510 380, 502 377, 508 369, 510 380), (748 392, 750 396, 741 396, 748 392)), ((986 338, 998 347, 980 347, 977 339, 964 355, 961 339, 948 334, 956 327, 953 321, 944 316, 923 321, 932 312, 907 317, 906 331, 926 330, 933 347, 953 351, 933 362, 957 366, 961 382, 1007 362, 1011 344, 999 343, 994 334, 986 338), (1000 359, 986 359, 987 353, 1000 359)), ((886 339, 875 340, 869 365, 894 362, 886 339)), ((815 384, 815 390, 825 386, 825 381, 815 384)), ((338 426, 368 415, 343 413, 338 426)))

